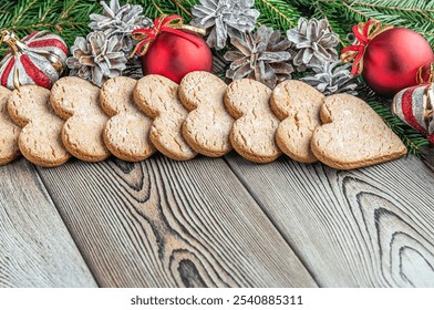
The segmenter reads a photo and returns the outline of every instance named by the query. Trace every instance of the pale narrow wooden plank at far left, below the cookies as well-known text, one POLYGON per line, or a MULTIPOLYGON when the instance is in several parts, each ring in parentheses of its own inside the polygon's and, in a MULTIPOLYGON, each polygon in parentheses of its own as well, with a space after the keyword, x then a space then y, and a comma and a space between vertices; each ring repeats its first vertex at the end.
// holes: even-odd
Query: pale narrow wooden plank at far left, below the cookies
POLYGON ((33 166, 16 161, 0 179, 0 287, 95 287, 33 166))

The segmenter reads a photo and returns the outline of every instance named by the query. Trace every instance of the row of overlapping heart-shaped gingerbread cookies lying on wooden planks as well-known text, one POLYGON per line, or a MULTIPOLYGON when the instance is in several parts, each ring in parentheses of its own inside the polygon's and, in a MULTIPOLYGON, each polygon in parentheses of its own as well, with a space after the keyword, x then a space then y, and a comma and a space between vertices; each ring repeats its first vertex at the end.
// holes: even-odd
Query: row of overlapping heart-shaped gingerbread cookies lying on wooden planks
MULTIPOLYGON (((18 145, 30 162, 49 167, 65 163, 69 154, 97 162, 112 153, 136 162, 158 149, 170 158, 185 161, 197 153, 223 156, 232 146, 241 156, 257 163, 271 162, 283 151, 299 162, 312 163, 319 158, 339 168, 374 164, 405 153, 399 138, 364 102, 348 95, 324 99, 297 81, 287 81, 271 92, 251 80, 227 86, 213 74, 194 72, 180 85, 163 76, 148 75, 138 82, 112 79, 100 91, 83 80, 64 78, 54 84, 51 93, 27 86, 14 91, 8 101, 9 114, 22 130, 11 125, 16 138, 10 138, 10 147, 2 148, 16 156, 18 147, 13 146, 18 145), (339 114, 342 104, 347 112, 355 108, 354 117, 350 115, 350 121, 358 121, 353 123, 355 126, 363 125, 364 120, 370 123, 370 134, 364 136, 365 141, 351 137, 345 142, 345 136, 340 135, 351 128, 343 128, 340 134, 337 128, 337 133, 331 133, 337 142, 330 147, 327 131, 320 131, 326 133, 326 138, 314 134, 321 127, 319 115, 326 117, 323 111, 330 111, 328 105, 339 114), (354 108, 348 108, 351 106, 354 108), (358 114, 365 117, 358 120, 358 114), (382 138, 372 143, 375 132, 382 138), (321 141, 328 142, 326 147, 321 141), (342 142, 351 146, 340 151, 342 142), (12 148, 16 149, 11 152, 12 148), (341 154, 349 149, 351 154, 341 154), (344 162, 338 161, 341 158, 344 162)), ((341 123, 351 125, 347 121, 341 123)), ((359 135, 364 133, 360 127, 355 130, 359 135)), ((1 154, 3 163, 13 156, 1 154)))

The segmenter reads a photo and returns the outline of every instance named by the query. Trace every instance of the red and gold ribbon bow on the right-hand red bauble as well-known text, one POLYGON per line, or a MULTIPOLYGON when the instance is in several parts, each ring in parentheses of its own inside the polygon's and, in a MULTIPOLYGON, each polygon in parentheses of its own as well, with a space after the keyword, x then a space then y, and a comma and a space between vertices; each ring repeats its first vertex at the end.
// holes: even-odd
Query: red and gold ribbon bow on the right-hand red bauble
POLYGON ((370 20, 353 25, 352 31, 355 35, 355 44, 341 51, 343 63, 354 61, 351 74, 360 74, 363 71, 363 56, 369 43, 380 33, 392 29, 393 25, 382 25, 379 21, 370 20))

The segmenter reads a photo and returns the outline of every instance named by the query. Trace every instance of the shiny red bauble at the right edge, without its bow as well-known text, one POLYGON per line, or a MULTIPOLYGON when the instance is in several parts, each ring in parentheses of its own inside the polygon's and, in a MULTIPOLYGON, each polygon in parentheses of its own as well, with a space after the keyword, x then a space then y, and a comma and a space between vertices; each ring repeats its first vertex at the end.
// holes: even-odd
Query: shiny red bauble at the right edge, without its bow
POLYGON ((417 70, 434 61, 426 40, 410 29, 393 28, 369 42, 363 56, 363 79, 378 94, 393 96, 417 84, 417 70))

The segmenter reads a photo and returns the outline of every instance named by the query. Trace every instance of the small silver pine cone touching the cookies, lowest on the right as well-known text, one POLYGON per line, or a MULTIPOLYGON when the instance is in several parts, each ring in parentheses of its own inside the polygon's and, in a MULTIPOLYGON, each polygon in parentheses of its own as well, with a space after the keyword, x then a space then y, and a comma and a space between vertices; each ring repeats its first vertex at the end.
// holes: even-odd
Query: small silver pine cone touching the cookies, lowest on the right
POLYGON ((340 61, 324 62, 312 65, 314 75, 300 79, 312 85, 324 95, 348 93, 356 95, 356 78, 350 72, 351 63, 342 64, 340 61))

